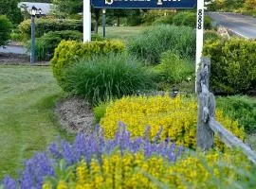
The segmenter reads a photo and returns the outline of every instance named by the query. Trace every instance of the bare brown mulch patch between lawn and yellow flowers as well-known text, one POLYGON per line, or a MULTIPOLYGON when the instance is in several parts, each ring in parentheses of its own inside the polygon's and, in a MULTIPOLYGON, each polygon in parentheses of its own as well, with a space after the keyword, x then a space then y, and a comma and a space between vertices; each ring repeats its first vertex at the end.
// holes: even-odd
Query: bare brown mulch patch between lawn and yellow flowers
POLYGON ((69 97, 59 101, 56 105, 61 125, 69 132, 82 132, 85 135, 94 130, 94 115, 89 104, 78 97, 69 97))

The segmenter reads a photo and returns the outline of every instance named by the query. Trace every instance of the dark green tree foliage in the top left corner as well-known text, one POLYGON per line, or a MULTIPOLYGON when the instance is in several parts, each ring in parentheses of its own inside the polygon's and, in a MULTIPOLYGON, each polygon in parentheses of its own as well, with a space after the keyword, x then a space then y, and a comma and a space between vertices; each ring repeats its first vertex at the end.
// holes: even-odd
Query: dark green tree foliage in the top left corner
POLYGON ((18 0, 0 0, 0 15, 7 15, 13 24, 20 24, 23 20, 21 9, 18 8, 18 2, 18 0))

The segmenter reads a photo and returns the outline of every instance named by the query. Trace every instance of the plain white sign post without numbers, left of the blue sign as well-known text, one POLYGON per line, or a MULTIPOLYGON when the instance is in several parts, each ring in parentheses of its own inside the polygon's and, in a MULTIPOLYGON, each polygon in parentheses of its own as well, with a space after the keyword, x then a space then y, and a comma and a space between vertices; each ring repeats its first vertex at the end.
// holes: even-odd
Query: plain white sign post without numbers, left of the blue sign
POLYGON ((83 43, 91 42, 91 2, 83 0, 83 43))

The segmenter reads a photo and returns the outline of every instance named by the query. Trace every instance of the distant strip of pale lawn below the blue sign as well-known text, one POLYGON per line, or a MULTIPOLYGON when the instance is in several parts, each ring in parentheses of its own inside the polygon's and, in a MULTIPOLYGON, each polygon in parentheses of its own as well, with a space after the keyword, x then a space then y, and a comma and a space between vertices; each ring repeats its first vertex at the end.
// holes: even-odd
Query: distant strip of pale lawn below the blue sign
MULTIPOLYGON (((106 27, 106 38, 109 39, 122 39, 129 40, 134 36, 141 33, 146 27, 145 26, 107 26, 106 27)), ((99 27, 99 35, 103 36, 102 27, 99 27)))

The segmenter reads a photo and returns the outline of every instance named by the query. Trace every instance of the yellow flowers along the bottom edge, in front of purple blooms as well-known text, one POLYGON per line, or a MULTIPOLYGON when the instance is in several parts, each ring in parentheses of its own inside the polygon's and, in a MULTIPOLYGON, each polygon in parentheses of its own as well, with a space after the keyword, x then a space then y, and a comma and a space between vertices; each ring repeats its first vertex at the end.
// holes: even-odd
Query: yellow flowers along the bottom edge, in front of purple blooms
MULTIPOLYGON (((59 180, 56 188, 103 189, 103 188, 216 188, 228 187, 239 178, 234 166, 250 169, 250 163, 241 153, 221 154, 210 151, 188 155, 176 163, 159 156, 146 158, 143 153, 119 151, 103 155, 102 162, 96 157, 90 163, 82 160, 73 166, 74 178, 59 180), (225 166, 221 165, 225 163, 225 166), (231 181, 232 180, 232 181, 231 181)), ((71 175, 71 174, 70 174, 71 175)), ((57 178, 58 179, 58 178, 57 178)), ((45 182, 44 189, 53 188, 45 182)))

